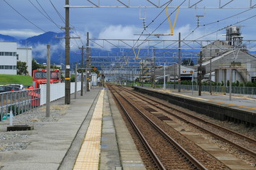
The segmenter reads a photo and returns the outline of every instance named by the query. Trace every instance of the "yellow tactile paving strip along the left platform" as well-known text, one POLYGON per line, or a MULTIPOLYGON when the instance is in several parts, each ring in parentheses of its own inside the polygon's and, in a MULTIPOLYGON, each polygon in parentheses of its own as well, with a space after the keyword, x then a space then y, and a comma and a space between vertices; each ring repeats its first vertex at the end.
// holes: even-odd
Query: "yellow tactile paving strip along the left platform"
POLYGON ((102 132, 102 110, 103 110, 104 90, 101 91, 97 101, 92 120, 85 135, 84 142, 78 154, 73 170, 95 169, 100 162, 100 137, 102 132))

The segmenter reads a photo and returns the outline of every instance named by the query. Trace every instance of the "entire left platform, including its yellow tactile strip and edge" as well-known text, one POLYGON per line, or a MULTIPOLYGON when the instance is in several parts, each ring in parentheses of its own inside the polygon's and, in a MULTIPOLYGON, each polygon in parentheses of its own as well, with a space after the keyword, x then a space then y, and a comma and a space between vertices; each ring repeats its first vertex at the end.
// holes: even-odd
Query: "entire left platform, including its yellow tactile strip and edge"
MULTIPOLYGON (((31 116, 39 109, 21 114, 33 119, 33 130, 6 132, 9 120, 1 122, 0 142, 5 145, 0 145, 0 169, 145 169, 109 93, 99 87, 83 96, 78 92, 61 116, 50 115, 49 120, 31 116), (18 144, 21 147, 8 148, 18 144)), ((65 108, 64 99, 52 105, 65 108)))

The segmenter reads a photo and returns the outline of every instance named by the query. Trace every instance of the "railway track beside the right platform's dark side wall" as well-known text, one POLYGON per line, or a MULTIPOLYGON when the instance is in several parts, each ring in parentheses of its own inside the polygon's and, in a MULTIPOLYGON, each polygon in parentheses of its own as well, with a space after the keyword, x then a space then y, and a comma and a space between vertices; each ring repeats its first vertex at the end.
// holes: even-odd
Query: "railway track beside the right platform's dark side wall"
POLYGON ((161 101, 156 101, 137 92, 125 89, 124 87, 120 88, 124 91, 129 91, 129 93, 136 94, 137 97, 143 100, 144 102, 154 104, 154 106, 156 108, 159 108, 161 111, 164 111, 165 113, 168 113, 178 118, 179 120, 182 120, 185 123, 189 123, 194 127, 198 128, 199 130, 202 130, 203 132, 206 132, 218 138, 219 140, 222 140, 223 142, 227 142, 233 147, 240 149, 242 152, 250 154, 252 157, 256 158, 256 140, 245 135, 242 135, 238 132, 234 132, 233 130, 223 128, 220 125, 210 123, 206 120, 196 117, 195 115, 191 115, 184 111, 179 111, 178 109, 173 108, 170 105, 164 104, 161 101), (176 113, 174 113, 174 111, 176 113), (191 118, 193 119, 193 121, 191 120, 191 118))

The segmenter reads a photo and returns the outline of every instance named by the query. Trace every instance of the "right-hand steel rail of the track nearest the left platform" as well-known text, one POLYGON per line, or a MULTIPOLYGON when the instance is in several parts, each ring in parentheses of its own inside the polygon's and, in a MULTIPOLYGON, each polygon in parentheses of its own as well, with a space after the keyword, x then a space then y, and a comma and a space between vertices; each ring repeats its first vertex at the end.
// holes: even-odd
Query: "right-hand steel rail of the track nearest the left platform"
MULTIPOLYGON (((122 96, 121 94, 119 94, 119 95, 122 96)), ((183 154, 189 160, 189 162, 191 162, 198 169, 206 169, 206 167, 203 166, 203 164, 201 164, 201 162, 198 162, 198 160, 195 157, 193 157, 193 155, 191 155, 189 152, 186 151, 186 149, 181 147, 181 145, 179 145, 178 142, 176 142, 172 137, 170 137, 168 134, 166 134, 166 132, 164 132, 164 130, 162 130, 158 125, 156 125, 156 123, 154 123, 149 117, 144 115, 144 113, 142 113, 142 111, 140 111, 139 108, 134 106, 124 96, 122 96, 122 98, 124 98, 124 100, 127 101, 127 103, 129 103, 129 105, 131 105, 138 113, 140 113, 158 132, 160 132, 161 135, 163 135, 164 138, 166 140, 168 140, 171 145, 176 147, 176 149, 178 149, 178 151, 181 152, 181 154, 183 154)))

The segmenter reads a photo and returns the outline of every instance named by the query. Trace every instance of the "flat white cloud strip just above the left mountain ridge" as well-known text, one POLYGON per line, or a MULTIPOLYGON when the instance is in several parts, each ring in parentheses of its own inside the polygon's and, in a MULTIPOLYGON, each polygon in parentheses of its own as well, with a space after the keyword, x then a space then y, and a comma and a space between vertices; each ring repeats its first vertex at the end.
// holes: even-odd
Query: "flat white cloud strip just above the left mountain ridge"
POLYGON ((18 37, 18 38, 29 38, 29 37, 32 37, 35 35, 40 35, 42 33, 35 32, 35 31, 29 30, 29 29, 24 29, 24 30, 10 29, 10 30, 0 30, 0 34, 10 35, 13 37, 18 37))

